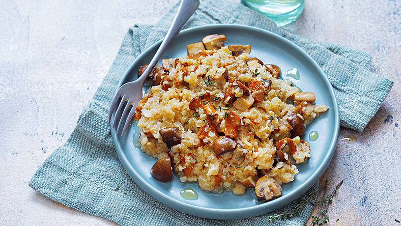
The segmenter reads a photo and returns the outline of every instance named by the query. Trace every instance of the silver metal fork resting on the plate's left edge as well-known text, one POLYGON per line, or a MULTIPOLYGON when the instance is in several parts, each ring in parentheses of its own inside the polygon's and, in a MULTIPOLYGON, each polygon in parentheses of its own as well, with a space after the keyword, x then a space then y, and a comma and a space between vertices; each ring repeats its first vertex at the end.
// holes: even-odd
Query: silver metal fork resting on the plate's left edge
POLYGON ((135 114, 135 107, 138 102, 142 99, 142 92, 138 92, 138 90, 142 90, 142 86, 144 86, 144 82, 148 75, 151 73, 157 62, 159 61, 161 55, 164 50, 168 47, 168 45, 173 41, 178 32, 181 30, 181 27, 187 22, 189 17, 195 12, 195 10, 199 6, 199 0, 182 0, 180 6, 178 7, 178 11, 176 16, 174 17, 173 23, 171 23, 170 28, 167 31, 166 36, 163 39, 163 42, 160 44, 159 49, 157 49, 155 55, 152 58, 152 61, 149 63, 149 66, 146 68, 144 73, 142 73, 135 81, 130 81, 117 91, 113 100, 111 101, 110 109, 108 110, 108 118, 107 124, 110 125, 110 121, 114 112, 114 108, 117 107, 116 114, 114 114, 114 120, 111 124, 111 129, 114 128, 117 121, 119 121, 117 126, 117 134, 120 131, 120 127, 123 125, 124 119, 124 127, 121 133, 121 136, 127 131, 128 126, 133 119, 135 114), (124 106, 125 105, 125 106, 124 106), (124 109, 123 109, 124 107, 124 109), (121 113, 121 111, 123 111, 121 113), (127 116, 127 112, 128 116, 127 116), (119 115, 121 114, 120 120, 119 115), (127 117, 125 117, 127 116, 127 117))

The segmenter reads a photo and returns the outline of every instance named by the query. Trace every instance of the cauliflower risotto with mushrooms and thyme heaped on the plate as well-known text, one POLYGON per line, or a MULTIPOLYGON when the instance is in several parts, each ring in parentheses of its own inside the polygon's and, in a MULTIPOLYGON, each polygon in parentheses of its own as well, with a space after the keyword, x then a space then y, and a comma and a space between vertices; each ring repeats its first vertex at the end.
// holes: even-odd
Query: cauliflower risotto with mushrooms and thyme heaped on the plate
POLYGON ((276 65, 250 56, 250 45, 225 41, 206 36, 187 46, 185 58, 153 69, 153 86, 135 109, 138 145, 158 159, 151 173, 159 181, 172 179, 172 167, 181 182, 205 191, 252 188, 269 201, 310 157, 301 137, 328 107, 279 79, 276 65))

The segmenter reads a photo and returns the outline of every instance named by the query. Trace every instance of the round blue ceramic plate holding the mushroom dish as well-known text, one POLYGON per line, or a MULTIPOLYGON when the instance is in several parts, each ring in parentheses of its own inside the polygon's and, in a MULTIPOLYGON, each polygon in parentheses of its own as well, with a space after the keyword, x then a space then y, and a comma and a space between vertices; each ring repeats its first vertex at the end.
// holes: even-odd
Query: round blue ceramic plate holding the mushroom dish
MULTIPOLYGON (((186 56, 186 45, 199 42, 209 34, 224 34, 228 44, 250 44, 251 55, 261 59, 265 64, 276 64, 283 72, 298 68, 300 79, 294 80, 303 91, 316 93, 318 104, 329 106, 329 110, 314 120, 305 131, 305 137, 311 148, 311 158, 298 164, 299 174, 293 182, 283 184, 282 196, 270 202, 259 202, 251 190, 244 195, 233 195, 231 192, 221 194, 209 193, 199 189, 196 183, 181 183, 178 176, 173 181, 160 183, 152 178, 150 169, 155 159, 142 153, 134 146, 138 131, 133 125, 123 137, 116 130, 111 134, 117 154, 125 170, 142 189, 156 200, 181 212, 214 219, 246 218, 268 213, 297 199, 315 184, 326 170, 333 156, 338 129, 338 106, 333 89, 319 65, 301 48, 271 32, 251 26, 234 24, 214 24, 193 27, 180 32, 162 58, 179 58, 186 56), (318 131, 319 138, 311 142, 308 134, 318 131), (199 195, 196 201, 185 200, 180 191, 193 188, 199 195)), ((122 84, 136 78, 141 65, 148 64, 161 41, 142 52, 123 76, 122 84)), ((285 78, 285 73, 284 73, 285 78)))

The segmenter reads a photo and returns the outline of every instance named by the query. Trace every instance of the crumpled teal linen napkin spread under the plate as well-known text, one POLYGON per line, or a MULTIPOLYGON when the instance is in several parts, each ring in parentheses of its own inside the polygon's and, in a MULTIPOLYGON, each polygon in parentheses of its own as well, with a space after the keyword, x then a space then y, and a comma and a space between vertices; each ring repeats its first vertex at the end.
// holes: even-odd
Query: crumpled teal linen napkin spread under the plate
MULTIPOLYGON (((51 200, 122 225, 302 225, 312 206, 276 223, 268 215, 241 220, 209 220, 171 209, 140 189, 124 171, 113 147, 107 111, 122 75, 135 58, 164 37, 176 4, 155 25, 134 25, 92 102, 85 107, 66 144, 55 150, 33 176, 30 186, 51 200)), ((322 67, 338 99, 341 125, 362 131, 388 94, 392 81, 370 72, 370 55, 351 48, 316 43, 291 34, 266 17, 235 2, 204 0, 186 27, 237 23, 260 27, 294 42, 322 67)), ((311 188, 315 191, 317 185, 311 188)), ((304 199, 303 195, 300 199, 304 199)), ((275 211, 291 211, 297 201, 275 211)))

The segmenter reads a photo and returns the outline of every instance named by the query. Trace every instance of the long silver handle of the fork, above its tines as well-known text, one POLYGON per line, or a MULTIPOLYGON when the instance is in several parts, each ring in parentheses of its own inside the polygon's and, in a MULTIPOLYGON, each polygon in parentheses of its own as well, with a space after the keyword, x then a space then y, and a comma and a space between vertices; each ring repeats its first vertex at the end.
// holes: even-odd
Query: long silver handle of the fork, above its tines
POLYGON ((153 56, 152 61, 149 63, 149 66, 146 68, 144 73, 138 78, 139 81, 145 82, 145 79, 148 77, 152 69, 155 67, 164 50, 168 47, 168 45, 173 41, 176 35, 180 32, 181 27, 187 22, 189 17, 195 12, 195 10, 199 6, 199 0, 182 0, 180 6, 178 7, 178 11, 176 16, 174 17, 173 23, 171 23, 170 28, 167 31, 166 36, 163 39, 159 49, 157 49, 156 54, 153 56))

